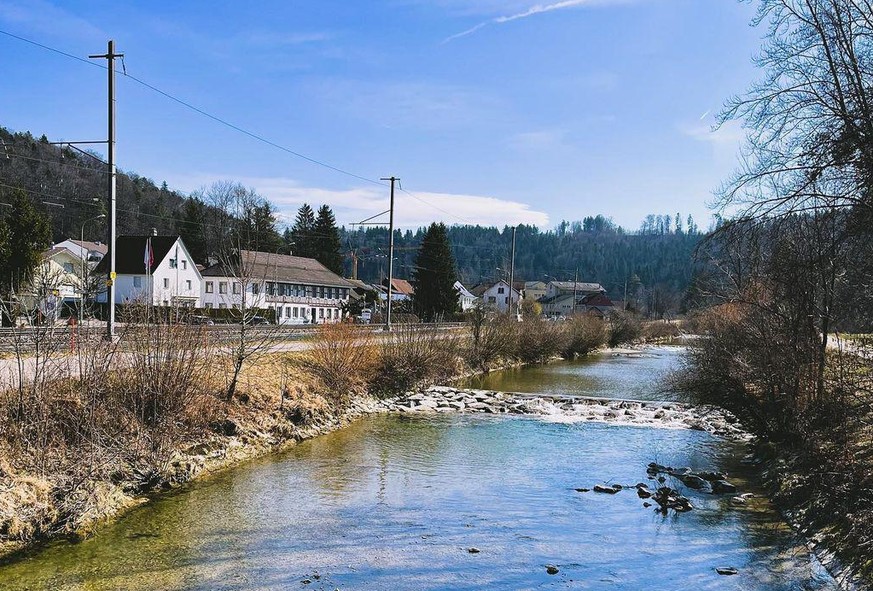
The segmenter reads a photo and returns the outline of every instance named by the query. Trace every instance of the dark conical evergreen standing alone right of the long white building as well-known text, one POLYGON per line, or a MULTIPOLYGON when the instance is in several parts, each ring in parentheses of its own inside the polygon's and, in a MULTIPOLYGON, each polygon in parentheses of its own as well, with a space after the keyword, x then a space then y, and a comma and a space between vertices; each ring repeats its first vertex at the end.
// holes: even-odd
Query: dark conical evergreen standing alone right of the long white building
POLYGON ((453 314, 458 309, 458 272, 444 224, 431 224, 415 259, 413 306, 425 322, 453 314))

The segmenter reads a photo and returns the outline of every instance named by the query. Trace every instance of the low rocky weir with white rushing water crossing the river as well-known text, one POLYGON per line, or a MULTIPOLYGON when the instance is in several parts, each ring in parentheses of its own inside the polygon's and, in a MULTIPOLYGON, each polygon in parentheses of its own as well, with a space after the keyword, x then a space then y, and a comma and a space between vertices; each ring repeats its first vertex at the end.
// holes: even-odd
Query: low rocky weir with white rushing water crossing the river
POLYGON ((385 400, 378 410, 405 413, 465 412, 536 415, 555 422, 601 422, 666 429, 694 429, 730 439, 749 435, 728 411, 714 406, 611 400, 583 396, 545 396, 493 390, 433 386, 385 400))

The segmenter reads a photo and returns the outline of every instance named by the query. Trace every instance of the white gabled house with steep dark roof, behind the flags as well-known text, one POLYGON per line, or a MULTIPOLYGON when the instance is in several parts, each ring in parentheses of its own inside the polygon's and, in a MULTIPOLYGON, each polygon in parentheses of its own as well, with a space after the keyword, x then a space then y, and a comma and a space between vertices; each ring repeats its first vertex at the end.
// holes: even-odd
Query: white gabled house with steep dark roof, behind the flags
MULTIPOLYGON (((106 273, 109 257, 95 272, 106 273)), ((119 236, 115 240, 115 301, 200 307, 202 276, 178 236, 119 236), (151 265, 146 250, 151 246, 151 265)), ((106 301, 106 292, 98 301, 106 301)))

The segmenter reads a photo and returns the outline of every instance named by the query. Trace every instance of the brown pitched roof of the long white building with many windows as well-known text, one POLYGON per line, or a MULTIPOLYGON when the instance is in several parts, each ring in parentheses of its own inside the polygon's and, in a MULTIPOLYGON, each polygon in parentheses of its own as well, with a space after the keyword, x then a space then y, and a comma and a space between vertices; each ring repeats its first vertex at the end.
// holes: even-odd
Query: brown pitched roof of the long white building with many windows
MULTIPOLYGON (((245 274, 252 278, 304 285, 353 287, 315 259, 254 250, 241 250, 240 257, 241 268, 245 269, 245 274)), ((237 273, 227 265, 218 263, 204 269, 202 275, 203 277, 234 277, 237 273)))

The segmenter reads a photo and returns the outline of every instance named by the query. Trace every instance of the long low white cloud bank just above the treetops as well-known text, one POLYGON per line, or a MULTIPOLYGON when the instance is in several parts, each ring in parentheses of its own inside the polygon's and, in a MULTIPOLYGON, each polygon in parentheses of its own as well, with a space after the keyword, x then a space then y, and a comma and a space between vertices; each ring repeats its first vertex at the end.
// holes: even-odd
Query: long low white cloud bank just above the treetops
MULTIPOLYGON (((184 177, 168 177, 171 186, 193 191, 208 187, 224 176, 196 174, 184 177)), ((352 189, 327 189, 307 187, 288 178, 248 177, 234 179, 246 187, 254 188, 269 199, 279 211, 280 219, 290 223, 297 208, 303 203, 313 207, 327 204, 333 209, 337 221, 348 225, 381 213, 389 207, 388 187, 357 187, 352 189)), ((400 228, 417 228, 431 222, 446 224, 481 224, 484 226, 534 224, 548 227, 549 216, 531 209, 527 203, 508 201, 483 195, 419 192, 395 193, 394 224, 400 228)), ((388 216, 376 221, 384 220, 388 216)))

